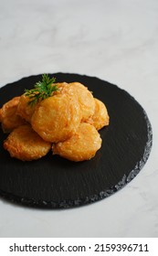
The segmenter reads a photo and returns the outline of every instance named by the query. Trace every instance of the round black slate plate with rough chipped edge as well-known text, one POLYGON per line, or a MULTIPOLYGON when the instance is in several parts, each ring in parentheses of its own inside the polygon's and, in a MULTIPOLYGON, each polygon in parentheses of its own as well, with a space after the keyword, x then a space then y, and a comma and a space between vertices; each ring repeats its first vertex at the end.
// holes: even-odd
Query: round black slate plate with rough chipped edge
MULTIPOLYGON (((79 81, 103 101, 111 123, 100 131, 102 147, 90 161, 73 163, 49 153, 33 162, 11 158, 0 131, 0 195, 40 208, 69 208, 109 197, 135 177, 147 161, 152 128, 140 104, 126 91, 97 78, 56 73, 57 81, 79 81)), ((0 89, 0 106, 32 88, 41 76, 31 76, 0 89)))

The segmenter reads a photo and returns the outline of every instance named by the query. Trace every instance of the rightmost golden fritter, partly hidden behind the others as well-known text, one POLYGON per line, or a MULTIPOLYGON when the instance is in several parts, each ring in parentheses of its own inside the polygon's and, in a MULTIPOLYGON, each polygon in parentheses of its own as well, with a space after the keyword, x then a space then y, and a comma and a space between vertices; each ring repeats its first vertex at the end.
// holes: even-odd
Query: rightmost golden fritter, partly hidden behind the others
POLYGON ((95 111, 94 114, 86 121, 86 123, 92 124, 97 130, 109 125, 110 117, 104 103, 98 99, 95 99, 95 111))

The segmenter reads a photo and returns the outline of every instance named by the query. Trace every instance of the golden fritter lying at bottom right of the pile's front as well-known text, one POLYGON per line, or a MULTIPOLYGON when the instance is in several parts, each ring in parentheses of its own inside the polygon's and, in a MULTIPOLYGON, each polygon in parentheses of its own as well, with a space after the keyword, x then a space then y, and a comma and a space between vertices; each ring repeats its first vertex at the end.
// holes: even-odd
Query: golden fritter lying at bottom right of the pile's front
POLYGON ((101 138, 90 123, 80 123, 77 132, 67 141, 53 145, 53 155, 79 162, 90 160, 100 149, 101 138))

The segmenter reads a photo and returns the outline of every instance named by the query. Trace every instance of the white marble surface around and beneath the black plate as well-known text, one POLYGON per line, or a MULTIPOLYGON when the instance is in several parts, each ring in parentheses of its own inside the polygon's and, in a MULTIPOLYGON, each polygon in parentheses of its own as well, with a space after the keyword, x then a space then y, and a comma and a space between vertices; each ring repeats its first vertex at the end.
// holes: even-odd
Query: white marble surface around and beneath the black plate
POLYGON ((158 236, 157 68, 157 0, 0 0, 0 86, 44 72, 97 76, 129 91, 153 125, 152 154, 120 192, 67 210, 0 199, 1 237, 158 236))

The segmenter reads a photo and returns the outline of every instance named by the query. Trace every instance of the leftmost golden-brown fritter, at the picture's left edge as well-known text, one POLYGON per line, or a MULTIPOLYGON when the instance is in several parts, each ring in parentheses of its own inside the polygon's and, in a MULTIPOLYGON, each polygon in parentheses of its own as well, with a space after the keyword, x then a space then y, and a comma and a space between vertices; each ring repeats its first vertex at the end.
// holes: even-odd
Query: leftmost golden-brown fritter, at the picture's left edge
POLYGON ((0 110, 0 122, 4 133, 10 133, 16 127, 26 123, 24 119, 16 114, 19 99, 20 97, 15 97, 7 101, 0 110))

